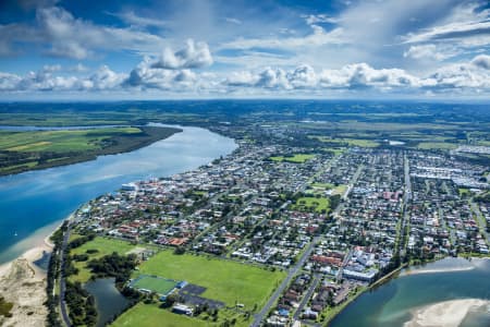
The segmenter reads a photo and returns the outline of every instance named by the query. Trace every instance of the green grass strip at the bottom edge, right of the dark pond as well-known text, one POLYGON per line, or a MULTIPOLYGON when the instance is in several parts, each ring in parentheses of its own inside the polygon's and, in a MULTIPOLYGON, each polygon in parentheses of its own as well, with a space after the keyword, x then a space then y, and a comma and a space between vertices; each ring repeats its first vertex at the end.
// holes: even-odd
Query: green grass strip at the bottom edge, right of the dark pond
POLYGON ((191 318, 185 315, 173 314, 167 310, 158 307, 156 304, 138 303, 123 313, 111 326, 114 327, 199 327, 218 326, 218 324, 207 323, 198 318, 191 318))

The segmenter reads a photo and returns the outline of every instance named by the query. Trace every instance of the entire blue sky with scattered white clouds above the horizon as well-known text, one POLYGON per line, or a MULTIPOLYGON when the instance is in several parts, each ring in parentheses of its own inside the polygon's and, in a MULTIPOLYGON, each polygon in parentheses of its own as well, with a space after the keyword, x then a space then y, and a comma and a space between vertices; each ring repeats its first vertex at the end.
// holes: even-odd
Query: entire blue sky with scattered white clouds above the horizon
POLYGON ((488 0, 2 0, 0 98, 490 98, 488 0))

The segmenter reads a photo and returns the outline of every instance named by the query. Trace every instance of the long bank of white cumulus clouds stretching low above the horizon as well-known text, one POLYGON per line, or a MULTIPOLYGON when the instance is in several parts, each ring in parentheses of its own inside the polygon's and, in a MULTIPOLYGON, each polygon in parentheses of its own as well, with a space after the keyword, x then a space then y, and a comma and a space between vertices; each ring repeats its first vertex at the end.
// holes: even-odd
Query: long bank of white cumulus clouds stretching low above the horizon
POLYGON ((196 73, 189 69, 161 69, 145 58, 128 74, 102 65, 86 76, 66 76, 59 65, 46 65, 37 72, 20 76, 0 73, 0 92, 144 92, 225 94, 266 93, 290 95, 323 94, 328 90, 365 90, 381 93, 478 94, 490 92, 490 56, 436 69, 417 76, 402 69, 376 69, 367 63, 353 63, 340 69, 315 70, 308 64, 296 68, 271 68, 234 72, 226 75, 196 73))

